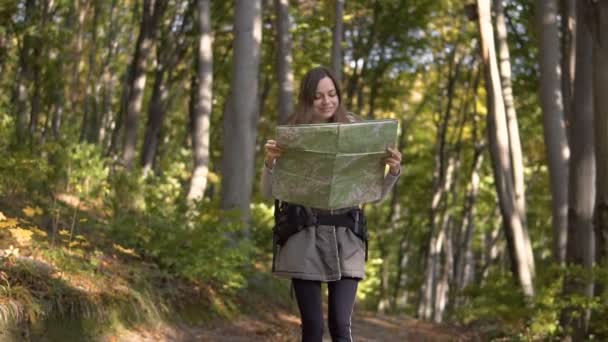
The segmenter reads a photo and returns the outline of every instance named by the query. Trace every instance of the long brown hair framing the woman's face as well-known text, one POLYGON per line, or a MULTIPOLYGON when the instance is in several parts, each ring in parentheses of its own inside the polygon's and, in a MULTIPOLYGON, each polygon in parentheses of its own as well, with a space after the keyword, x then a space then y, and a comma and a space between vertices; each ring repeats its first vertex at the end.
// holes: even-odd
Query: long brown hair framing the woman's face
POLYGON ((340 85, 336 81, 336 76, 328 68, 319 66, 310 69, 302 79, 296 112, 287 119, 286 124, 297 125, 312 122, 317 85, 325 77, 329 77, 334 83, 339 101, 338 108, 336 108, 336 112, 331 117, 330 122, 350 122, 346 116, 346 109, 342 105, 342 92, 340 91, 340 85))

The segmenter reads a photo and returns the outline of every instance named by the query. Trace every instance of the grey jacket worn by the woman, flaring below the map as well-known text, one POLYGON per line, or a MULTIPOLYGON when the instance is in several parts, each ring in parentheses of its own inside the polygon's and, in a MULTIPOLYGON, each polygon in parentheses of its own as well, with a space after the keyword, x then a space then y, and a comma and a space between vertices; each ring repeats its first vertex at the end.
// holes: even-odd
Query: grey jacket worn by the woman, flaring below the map
MULTIPOLYGON (((399 175, 388 173, 382 186, 382 199, 399 175)), ((264 167, 262 193, 272 198, 272 170, 264 167)), ((333 210, 341 213, 350 208, 333 210)), ((326 213, 313 209, 317 213, 326 213)), ((365 244, 347 227, 311 226, 292 235, 279 246, 274 258, 274 274, 289 278, 335 281, 342 277, 365 278, 365 244)))

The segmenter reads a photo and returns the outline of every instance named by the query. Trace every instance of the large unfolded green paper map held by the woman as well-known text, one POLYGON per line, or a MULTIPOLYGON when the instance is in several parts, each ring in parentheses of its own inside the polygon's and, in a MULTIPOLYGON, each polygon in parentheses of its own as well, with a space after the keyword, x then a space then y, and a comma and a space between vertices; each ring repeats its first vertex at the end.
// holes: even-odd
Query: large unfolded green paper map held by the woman
POLYGON ((380 199, 386 148, 396 146, 397 120, 277 126, 284 152, 277 159, 272 193, 282 201, 320 209, 380 199))

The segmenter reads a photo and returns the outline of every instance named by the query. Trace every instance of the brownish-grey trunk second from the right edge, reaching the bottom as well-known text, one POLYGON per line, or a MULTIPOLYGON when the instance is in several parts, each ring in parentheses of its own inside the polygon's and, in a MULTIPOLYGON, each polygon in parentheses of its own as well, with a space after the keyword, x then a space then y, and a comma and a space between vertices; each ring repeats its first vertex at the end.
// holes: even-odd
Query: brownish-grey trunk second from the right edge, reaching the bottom
MULTIPOLYGON (((577 21, 585 23, 584 3, 579 2, 577 21)), ((568 243, 566 263, 591 272, 594 261, 593 208, 595 202, 595 155, 593 137, 593 43, 587 25, 577 26, 576 77, 573 100, 574 112, 570 122, 570 176, 568 188, 568 243)), ((599 132, 598 132, 599 133, 599 132)), ((600 134, 605 134, 601 132, 600 134)), ((567 277, 564 282, 566 298, 579 294, 593 296, 593 283, 580 275, 567 277)), ((578 308, 580 309, 580 307, 578 308)), ((571 328, 574 341, 582 341, 587 335, 590 311, 573 314, 570 308, 564 312, 563 323, 571 328)))

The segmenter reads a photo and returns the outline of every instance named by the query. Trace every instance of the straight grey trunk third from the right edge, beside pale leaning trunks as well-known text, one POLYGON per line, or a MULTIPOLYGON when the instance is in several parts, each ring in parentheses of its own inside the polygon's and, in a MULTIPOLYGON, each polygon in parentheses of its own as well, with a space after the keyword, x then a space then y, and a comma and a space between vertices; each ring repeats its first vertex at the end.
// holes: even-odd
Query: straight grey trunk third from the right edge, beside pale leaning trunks
POLYGON ((538 0, 540 10, 540 100, 551 182, 553 212, 553 254, 563 264, 566 257, 568 226, 569 148, 564 124, 560 81, 560 42, 557 0, 538 0))

